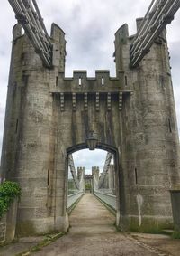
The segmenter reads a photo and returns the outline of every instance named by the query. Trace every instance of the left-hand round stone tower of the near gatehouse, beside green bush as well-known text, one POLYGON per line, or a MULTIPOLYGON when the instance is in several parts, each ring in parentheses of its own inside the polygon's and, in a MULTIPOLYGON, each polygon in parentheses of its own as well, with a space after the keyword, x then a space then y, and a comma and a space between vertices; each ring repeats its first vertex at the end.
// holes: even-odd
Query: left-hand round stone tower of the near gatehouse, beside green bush
MULTIPOLYGON (((40 57, 19 25, 14 27, 14 41, 6 105, 2 169, 6 179, 22 187, 18 208, 17 232, 32 234, 55 228, 56 172, 54 152, 56 126, 50 83, 56 84, 64 66, 64 33, 52 25, 54 68, 43 67, 40 57), (63 58, 61 58, 61 55, 63 58)), ((62 203, 61 203, 62 204, 62 203)), ((60 213, 58 213, 60 214, 60 213)), ((66 230, 59 223, 57 230, 66 230)))

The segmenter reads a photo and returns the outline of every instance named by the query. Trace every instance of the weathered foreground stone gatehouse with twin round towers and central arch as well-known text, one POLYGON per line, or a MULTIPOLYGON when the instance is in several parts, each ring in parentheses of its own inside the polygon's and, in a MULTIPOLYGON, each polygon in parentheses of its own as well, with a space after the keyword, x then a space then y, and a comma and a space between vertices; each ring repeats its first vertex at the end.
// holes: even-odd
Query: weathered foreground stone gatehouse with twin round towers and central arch
POLYGON ((65 78, 64 32, 52 24, 52 68, 43 66, 21 26, 14 26, 2 173, 19 182, 17 232, 66 231, 67 156, 87 147, 114 154, 117 225, 157 230, 172 224, 169 189, 180 181, 179 141, 166 32, 130 69, 127 24, 115 34, 117 75, 74 71, 65 78))

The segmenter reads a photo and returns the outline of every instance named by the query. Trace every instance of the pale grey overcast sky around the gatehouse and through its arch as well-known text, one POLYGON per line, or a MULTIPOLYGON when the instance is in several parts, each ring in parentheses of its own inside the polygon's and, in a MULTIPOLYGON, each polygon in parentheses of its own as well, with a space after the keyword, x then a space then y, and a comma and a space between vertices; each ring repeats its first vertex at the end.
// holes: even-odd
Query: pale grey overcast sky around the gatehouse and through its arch
MULTIPOLYGON (((50 31, 51 23, 58 24, 66 33, 67 63, 66 75, 73 70, 87 70, 94 76, 96 69, 109 69, 115 75, 112 58, 114 33, 124 23, 129 24, 130 34, 135 33, 135 20, 144 16, 151 0, 37 0, 44 23, 50 31), (136 3, 136 4, 135 4, 136 3)), ((14 12, 7 0, 2 0, 0 15, 0 152, 3 139, 4 109, 11 54, 12 28, 15 24, 14 12)), ((180 127, 180 11, 167 27, 168 45, 174 82, 176 114, 180 127)), ((97 152, 97 151, 94 151, 97 152)), ((80 153, 86 157, 86 153, 80 153)), ((94 153, 93 153, 94 154, 94 153)), ((100 163, 100 156, 94 156, 100 163)), ((79 159, 79 166, 85 166, 85 157, 79 159)), ((89 156, 88 156, 89 157, 89 156)), ((92 156, 93 157, 93 156, 92 156)), ((89 163, 89 166, 96 166, 89 163)), ((77 165, 78 165, 77 164, 77 165)))

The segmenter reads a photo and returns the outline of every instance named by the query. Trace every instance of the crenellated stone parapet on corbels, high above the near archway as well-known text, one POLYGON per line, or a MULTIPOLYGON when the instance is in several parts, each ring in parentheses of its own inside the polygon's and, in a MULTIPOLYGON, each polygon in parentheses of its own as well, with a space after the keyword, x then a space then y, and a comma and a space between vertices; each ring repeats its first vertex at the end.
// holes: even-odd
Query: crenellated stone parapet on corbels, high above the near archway
POLYGON ((112 110, 112 102, 121 111, 123 97, 130 96, 132 90, 125 85, 123 74, 111 77, 110 71, 95 71, 95 77, 87 77, 87 71, 74 71, 72 78, 65 78, 59 73, 56 83, 51 84, 50 93, 58 100, 61 111, 66 111, 66 101, 71 100, 72 110, 83 101, 83 109, 88 110, 90 102, 94 102, 96 111, 100 110, 101 102, 105 102, 107 111, 112 110))

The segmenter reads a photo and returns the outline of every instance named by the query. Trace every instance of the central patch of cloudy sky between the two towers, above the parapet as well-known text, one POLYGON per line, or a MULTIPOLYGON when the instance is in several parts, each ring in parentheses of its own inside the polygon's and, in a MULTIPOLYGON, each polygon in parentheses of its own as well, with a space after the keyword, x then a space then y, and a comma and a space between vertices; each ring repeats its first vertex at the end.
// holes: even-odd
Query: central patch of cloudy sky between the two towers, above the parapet
MULTIPOLYGON (((41 13, 67 33, 67 73, 73 69, 110 69, 114 73, 112 53, 114 33, 124 23, 135 27, 135 19, 145 13, 148 3, 92 0, 40 1, 41 13), (43 4, 42 4, 43 3, 43 4), (128 11, 127 11, 128 6, 128 11), (129 15, 130 14, 130 15, 129 15), (107 46, 108 45, 108 46, 107 46)), ((46 19, 45 19, 46 21, 46 19)))

